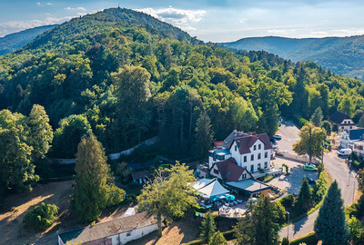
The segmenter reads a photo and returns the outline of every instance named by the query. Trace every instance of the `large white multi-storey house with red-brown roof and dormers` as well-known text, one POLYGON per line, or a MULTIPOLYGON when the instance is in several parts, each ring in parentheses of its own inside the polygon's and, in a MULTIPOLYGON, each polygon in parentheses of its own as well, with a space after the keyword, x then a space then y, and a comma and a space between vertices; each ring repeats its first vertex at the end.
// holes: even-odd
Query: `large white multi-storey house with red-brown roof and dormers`
MULTIPOLYGON (((250 173, 260 169, 270 169, 270 153, 273 150, 267 133, 256 132, 231 132, 221 149, 209 151, 208 164, 211 170, 214 163, 235 159, 237 165, 245 168, 250 173)), ((221 164, 220 164, 221 165, 221 164)))

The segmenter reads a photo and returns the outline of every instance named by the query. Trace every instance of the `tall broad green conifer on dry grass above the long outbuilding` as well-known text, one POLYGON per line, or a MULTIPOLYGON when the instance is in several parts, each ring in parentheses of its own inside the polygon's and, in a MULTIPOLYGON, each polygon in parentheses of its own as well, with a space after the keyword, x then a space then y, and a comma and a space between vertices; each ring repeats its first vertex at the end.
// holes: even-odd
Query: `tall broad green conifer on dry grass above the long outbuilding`
POLYGON ((78 144, 73 204, 83 222, 97 220, 101 211, 124 200, 111 176, 102 145, 93 134, 78 144))

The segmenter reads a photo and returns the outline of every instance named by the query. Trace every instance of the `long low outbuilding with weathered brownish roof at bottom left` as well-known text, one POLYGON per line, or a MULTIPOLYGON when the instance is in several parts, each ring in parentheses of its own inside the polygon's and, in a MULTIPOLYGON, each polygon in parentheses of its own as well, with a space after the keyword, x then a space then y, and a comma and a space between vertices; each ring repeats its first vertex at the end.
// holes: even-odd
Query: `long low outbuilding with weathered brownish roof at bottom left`
POLYGON ((58 235, 58 245, 120 245, 136 240, 157 230, 157 220, 147 217, 146 212, 137 213, 96 225, 89 225, 76 230, 66 231, 58 235))

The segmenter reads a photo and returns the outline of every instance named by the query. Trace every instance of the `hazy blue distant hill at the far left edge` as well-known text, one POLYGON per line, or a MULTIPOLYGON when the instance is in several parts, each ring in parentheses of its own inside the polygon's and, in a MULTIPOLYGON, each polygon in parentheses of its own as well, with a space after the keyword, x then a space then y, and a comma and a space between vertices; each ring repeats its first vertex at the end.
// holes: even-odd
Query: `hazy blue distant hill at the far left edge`
POLYGON ((45 31, 52 29, 55 26, 56 25, 44 25, 0 37, 0 55, 15 52, 18 48, 21 48, 32 41, 37 35, 43 34, 45 31))

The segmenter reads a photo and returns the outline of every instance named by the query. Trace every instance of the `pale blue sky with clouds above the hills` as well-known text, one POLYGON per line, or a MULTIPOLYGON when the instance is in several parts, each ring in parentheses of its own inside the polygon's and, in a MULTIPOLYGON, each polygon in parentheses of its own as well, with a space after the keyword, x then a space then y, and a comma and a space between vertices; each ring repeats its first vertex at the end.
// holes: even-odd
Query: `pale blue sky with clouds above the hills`
POLYGON ((117 5, 154 15, 205 42, 364 34, 361 0, 0 0, 0 36, 117 5))

